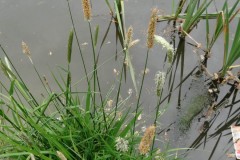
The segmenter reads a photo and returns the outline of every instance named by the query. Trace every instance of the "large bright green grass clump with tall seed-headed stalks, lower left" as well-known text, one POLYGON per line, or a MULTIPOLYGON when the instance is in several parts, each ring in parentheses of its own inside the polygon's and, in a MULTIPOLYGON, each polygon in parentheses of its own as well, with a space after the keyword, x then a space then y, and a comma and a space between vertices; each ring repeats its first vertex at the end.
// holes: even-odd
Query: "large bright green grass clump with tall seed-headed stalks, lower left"
MULTIPOLYGON (((108 0, 113 18, 118 21, 118 28, 122 33, 123 53, 122 68, 116 88, 111 88, 105 97, 102 96, 98 69, 97 39, 99 26, 95 34, 92 32, 91 5, 89 0, 82 0, 84 19, 89 26, 92 47, 92 68, 87 73, 82 50, 76 33, 76 26, 67 1, 73 29, 69 33, 68 48, 66 51, 66 68, 61 67, 66 76, 52 72, 53 79, 60 92, 50 88, 47 78, 41 78, 31 59, 29 46, 22 42, 23 52, 29 57, 38 78, 40 86, 44 87, 47 96, 43 101, 35 98, 28 85, 19 74, 12 59, 1 46, 5 60, 0 59, 1 71, 8 83, 0 82, 0 159, 43 159, 43 160, 75 160, 75 159, 175 159, 168 151, 159 152, 159 147, 151 149, 155 141, 156 123, 151 125, 142 136, 136 132, 137 118, 141 114, 140 101, 145 78, 143 74, 138 92, 133 66, 129 57, 129 48, 138 42, 132 40, 133 28, 129 27, 125 34, 124 6, 119 0, 114 1, 116 14, 108 0), (82 63, 87 80, 87 89, 82 92, 73 92, 72 55, 73 46, 79 47, 82 63), (124 68, 129 64, 133 85, 138 94, 136 108, 128 105, 126 99, 120 98, 124 68), (113 94, 113 90, 117 94, 113 94), (98 94, 96 94, 98 93, 98 94), (112 98, 113 97, 113 98, 112 98), (133 113, 133 114, 129 114, 133 113)), ((152 10, 148 37, 147 54, 144 70, 146 70, 149 50, 153 47, 158 10, 152 10)), ((108 31, 106 32, 108 34, 108 31)), ((107 36, 106 34, 106 36, 107 36)), ((66 38, 66 37, 65 37, 66 38)), ((106 37, 105 37, 106 38, 106 37)), ((105 41, 102 40, 102 44, 105 41)), ((66 38, 67 39, 67 38, 66 38)), ((114 56, 113 56, 114 57, 114 56)), ((126 73, 125 73, 126 74, 126 73)), ((33 76, 33 75, 29 75, 33 76)), ((83 77, 84 77, 83 76, 83 77)), ((163 84, 161 84, 163 85, 163 84)), ((161 90, 158 85, 158 90, 161 90)), ((169 151, 170 152, 170 151, 169 151)))

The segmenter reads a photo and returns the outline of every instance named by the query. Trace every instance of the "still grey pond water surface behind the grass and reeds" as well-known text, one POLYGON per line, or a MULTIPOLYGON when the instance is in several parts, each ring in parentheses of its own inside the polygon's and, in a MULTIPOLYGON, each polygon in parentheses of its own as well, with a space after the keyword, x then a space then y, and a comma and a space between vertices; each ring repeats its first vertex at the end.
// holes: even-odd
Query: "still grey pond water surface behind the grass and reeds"
MULTIPOLYGON (((92 62, 91 53, 91 42, 90 35, 88 31, 88 25, 83 21, 83 13, 81 8, 81 1, 70 0, 70 6, 73 14, 73 19, 77 29, 79 41, 83 49, 84 58, 88 68, 91 68, 89 64, 92 62), (89 63, 88 63, 89 62, 89 63)), ((113 2, 113 1, 111 1, 113 2)), ((233 2, 232 2, 233 3, 233 2)), ((221 8, 223 2, 217 2, 217 8, 221 8)), ((231 3, 229 4, 231 5, 231 3)), ((140 83, 140 77, 142 75, 142 70, 144 68, 144 61, 146 57, 146 35, 147 27, 149 21, 150 10, 153 7, 158 7, 161 14, 171 14, 172 12, 172 2, 162 1, 162 0, 126 0, 125 1, 125 14, 126 14, 126 27, 132 25, 134 28, 134 39, 140 39, 138 45, 134 46, 130 50, 132 57, 132 63, 136 72, 136 79, 138 85, 140 83)), ((99 40, 104 37, 107 27, 110 23, 109 10, 103 1, 92 0, 93 7, 93 18, 92 26, 99 24, 100 33, 99 40)), ((208 12, 215 12, 215 6, 209 7, 208 12)), ((67 39, 70 29, 72 28, 70 15, 68 12, 67 1, 66 0, 0 0, 0 44, 4 47, 9 57, 12 59, 19 73, 24 78, 24 81, 28 84, 30 90, 33 91, 34 95, 41 95, 44 93, 44 89, 39 87, 40 83, 32 64, 30 63, 27 56, 22 54, 21 43, 26 42, 30 47, 32 53, 32 59, 34 65, 38 68, 41 75, 45 75, 49 81, 52 88, 57 89, 57 85, 51 76, 51 70, 53 72, 58 72, 59 67, 66 67, 67 65, 67 39)), ((236 29, 236 22, 234 21, 230 26, 230 30, 236 29)), ((210 21, 211 30, 214 29, 215 21, 210 21)), ((158 23, 157 34, 163 35, 168 40, 170 36, 164 34, 164 30, 171 28, 166 22, 158 23)), ((194 37, 199 43, 205 45, 205 22, 200 22, 198 28, 195 29, 191 36, 194 37)), ((233 36, 230 37, 231 39, 233 36)), ((219 38, 219 39, 222 39, 219 38)), ((176 42, 178 42, 176 38, 176 42)), ((188 42, 192 41, 187 39, 188 42)), ((177 43, 176 43, 177 47, 177 43)), ((108 92, 116 79, 113 79, 115 73, 114 69, 119 70, 122 55, 119 53, 118 60, 115 61, 116 49, 120 50, 120 44, 116 46, 115 40, 115 26, 111 25, 107 39, 100 52, 99 64, 103 64, 99 68, 99 75, 101 75, 100 81, 102 83, 102 91, 104 94, 108 92)), ((79 56, 79 51, 76 43, 73 48, 73 62, 72 62, 72 75, 74 75, 73 82, 78 82, 76 88, 85 91, 86 85, 82 75, 84 75, 84 70, 82 69, 81 58, 79 56), (79 81, 81 80, 81 81, 79 81)), ((218 40, 212 49, 213 58, 209 60, 209 70, 218 71, 221 67, 223 58, 223 42, 218 40)), ((3 54, 0 54, 2 58, 3 54)), ((155 111, 157 97, 155 94, 155 82, 154 76, 157 71, 166 71, 166 65, 164 66, 165 51, 162 50, 161 46, 156 46, 151 50, 149 56, 148 69, 149 73, 145 79, 144 91, 141 101, 143 102, 144 112, 143 112, 143 124, 153 123, 151 119, 152 112, 155 111)), ((198 65, 199 57, 194 53, 194 47, 186 44, 185 48, 185 66, 184 75, 187 75, 195 66, 198 65)), ((88 70, 90 72, 91 70, 88 70)), ((179 70, 180 71, 180 70, 179 70)), ((180 72, 176 73, 176 77, 180 76, 180 72)), ((5 79, 0 76, 0 80, 5 79)), ((175 85, 179 83, 179 78, 176 78, 175 85)), ((123 86, 122 97, 126 98, 128 96, 128 90, 133 89, 132 81, 130 75, 127 77, 127 82, 123 86)), ((167 89, 167 87, 165 88, 167 89)), ((221 94, 219 97, 223 97, 228 91, 229 87, 221 89, 221 94)), ((182 96, 181 96, 181 111, 179 111, 177 100, 178 100, 178 90, 172 94, 172 98, 169 104, 164 103, 163 106, 167 106, 167 110, 159 120, 161 128, 158 128, 158 132, 161 129, 166 128, 170 130, 169 132, 163 131, 160 135, 168 135, 170 139, 170 144, 172 147, 187 148, 193 143, 193 141, 199 136, 199 128, 204 122, 201 120, 198 122, 197 118, 193 119, 193 124, 191 125, 189 131, 185 134, 179 133, 177 125, 171 125, 173 122, 178 124, 182 115, 187 110, 186 107, 194 103, 199 105, 206 105, 205 101, 207 98, 197 99, 199 95, 206 95, 207 86, 203 78, 198 78, 195 76, 190 76, 188 80, 182 86, 182 96), (190 89, 189 89, 190 87, 190 89), (185 96, 186 95, 186 96, 185 96), (163 134, 164 133, 164 134, 163 134)), ((163 97, 168 93, 164 92, 163 97)), ((41 99, 41 96, 39 96, 41 99)), ((221 98, 220 98, 221 99, 221 98)), ((130 103, 135 101, 135 97, 130 99, 130 103)), ((228 110, 223 108, 221 114, 217 117, 214 125, 210 129, 210 133, 213 133, 216 126, 225 120, 228 110)), ((199 117, 199 116, 198 116, 199 117)), ((225 135, 230 133, 230 129, 226 129, 220 138, 219 145, 211 159, 227 159, 227 153, 233 153, 233 147, 231 143, 231 135, 225 135), (230 143, 229 143, 230 141, 230 143)), ((203 160, 208 159, 211 151, 214 148, 218 140, 218 136, 208 140, 205 145, 201 145, 196 150, 192 150, 187 155, 186 159, 203 160)), ((179 153, 181 154, 181 152, 179 153)))

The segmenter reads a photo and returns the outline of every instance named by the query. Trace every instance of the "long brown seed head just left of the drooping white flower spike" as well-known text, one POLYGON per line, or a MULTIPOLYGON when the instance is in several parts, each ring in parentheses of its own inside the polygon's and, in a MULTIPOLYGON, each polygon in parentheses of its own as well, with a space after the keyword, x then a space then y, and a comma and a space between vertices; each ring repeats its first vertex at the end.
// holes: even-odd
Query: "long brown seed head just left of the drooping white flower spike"
POLYGON ((156 31, 156 24, 157 24, 157 13, 158 13, 158 9, 153 8, 150 22, 148 25, 148 37, 147 37, 147 47, 148 48, 152 48, 153 44, 154 44, 154 34, 156 31))

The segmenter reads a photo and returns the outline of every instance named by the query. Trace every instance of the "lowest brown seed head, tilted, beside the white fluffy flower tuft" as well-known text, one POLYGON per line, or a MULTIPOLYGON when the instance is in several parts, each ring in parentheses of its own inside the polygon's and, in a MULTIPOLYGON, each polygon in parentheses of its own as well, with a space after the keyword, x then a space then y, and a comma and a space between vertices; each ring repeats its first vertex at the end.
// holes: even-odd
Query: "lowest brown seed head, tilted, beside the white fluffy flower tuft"
POLYGON ((146 129, 138 147, 140 154, 145 155, 149 151, 155 135, 155 130, 156 127, 154 125, 151 125, 146 129))

